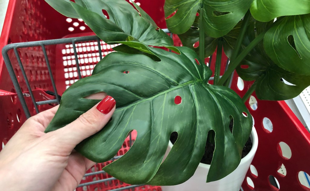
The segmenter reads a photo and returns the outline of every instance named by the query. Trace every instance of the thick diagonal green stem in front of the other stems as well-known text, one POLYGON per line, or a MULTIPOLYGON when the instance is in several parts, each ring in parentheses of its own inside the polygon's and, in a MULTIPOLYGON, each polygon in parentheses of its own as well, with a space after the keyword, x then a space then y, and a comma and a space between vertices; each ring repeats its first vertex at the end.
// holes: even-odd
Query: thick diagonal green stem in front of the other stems
POLYGON ((235 69, 239 66, 240 62, 248 55, 248 53, 251 52, 252 49, 255 48, 256 45, 258 45, 263 39, 266 34, 267 30, 265 32, 262 32, 257 36, 240 54, 239 56, 234 60, 231 61, 227 71, 222 76, 222 78, 219 80, 218 85, 223 86, 226 80, 231 76, 232 72, 235 71, 235 69))

